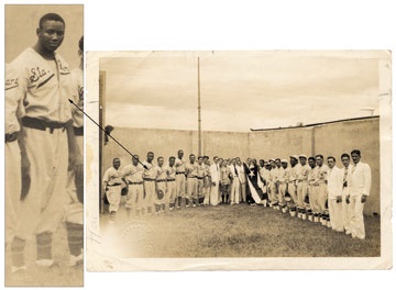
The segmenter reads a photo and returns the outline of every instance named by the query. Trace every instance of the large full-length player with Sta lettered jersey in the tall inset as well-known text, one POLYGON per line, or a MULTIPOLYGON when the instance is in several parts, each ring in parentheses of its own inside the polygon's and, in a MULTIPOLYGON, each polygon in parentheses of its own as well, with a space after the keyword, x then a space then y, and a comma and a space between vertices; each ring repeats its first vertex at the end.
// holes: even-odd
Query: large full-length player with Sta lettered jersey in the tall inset
POLYGON ((72 125, 68 98, 74 83, 69 67, 56 53, 65 35, 65 21, 56 13, 40 19, 37 42, 10 64, 16 74, 16 99, 23 100, 21 164, 23 175, 19 223, 11 242, 12 272, 26 270, 26 239, 34 234, 36 265, 54 265, 53 233, 67 204, 67 169, 82 171, 72 125), (29 178, 28 178, 29 176, 29 178))

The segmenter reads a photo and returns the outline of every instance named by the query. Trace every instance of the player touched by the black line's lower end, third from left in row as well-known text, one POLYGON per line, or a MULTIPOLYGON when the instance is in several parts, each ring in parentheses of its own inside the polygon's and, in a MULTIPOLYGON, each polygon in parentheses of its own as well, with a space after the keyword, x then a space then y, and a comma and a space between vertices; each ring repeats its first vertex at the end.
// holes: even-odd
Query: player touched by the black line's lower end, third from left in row
POLYGON ((154 153, 147 153, 147 159, 143 161, 143 186, 144 186, 144 200, 143 200, 143 208, 146 209, 146 213, 148 215, 153 214, 153 207, 154 207, 154 198, 156 196, 156 177, 157 170, 155 165, 153 164, 154 153))

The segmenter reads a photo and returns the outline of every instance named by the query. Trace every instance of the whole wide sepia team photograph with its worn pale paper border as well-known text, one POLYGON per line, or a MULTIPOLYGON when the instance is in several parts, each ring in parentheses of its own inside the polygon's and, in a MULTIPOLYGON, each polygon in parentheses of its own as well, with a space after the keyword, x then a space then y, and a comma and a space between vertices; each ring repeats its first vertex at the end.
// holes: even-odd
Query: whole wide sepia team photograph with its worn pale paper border
POLYGON ((87 66, 88 270, 392 267, 389 52, 87 66))

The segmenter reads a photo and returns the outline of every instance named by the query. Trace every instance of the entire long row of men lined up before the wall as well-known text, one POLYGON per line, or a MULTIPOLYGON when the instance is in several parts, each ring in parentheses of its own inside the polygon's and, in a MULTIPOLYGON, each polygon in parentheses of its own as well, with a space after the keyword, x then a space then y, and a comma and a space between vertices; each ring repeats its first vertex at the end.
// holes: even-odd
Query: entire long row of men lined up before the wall
POLYGON ((128 215, 160 214, 184 207, 217 205, 219 203, 297 208, 316 216, 330 215, 331 227, 352 237, 365 238, 363 205, 370 196, 371 169, 360 161, 358 149, 342 154, 343 168, 336 166, 336 157, 293 155, 289 161, 274 158, 265 161, 239 157, 222 159, 190 154, 184 159, 164 157, 148 152, 142 163, 138 155, 132 164, 120 168, 120 159, 103 176, 103 198, 109 203, 110 221, 114 222, 120 208, 121 191, 125 187, 128 215), (352 158, 352 164, 351 164, 352 158), (183 202, 184 200, 184 202, 183 202))

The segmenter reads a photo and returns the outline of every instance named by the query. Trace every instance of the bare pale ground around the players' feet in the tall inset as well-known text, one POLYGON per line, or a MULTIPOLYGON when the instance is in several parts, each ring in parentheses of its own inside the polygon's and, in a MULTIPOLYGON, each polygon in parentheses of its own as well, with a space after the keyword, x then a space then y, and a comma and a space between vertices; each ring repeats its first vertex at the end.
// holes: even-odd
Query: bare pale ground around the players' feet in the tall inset
POLYGON ((82 286, 84 265, 69 267, 69 252, 67 246, 66 228, 61 226, 54 234, 53 255, 57 266, 43 268, 35 265, 35 238, 26 241, 25 248, 26 275, 21 277, 11 274, 11 249, 6 252, 6 286, 82 286))

